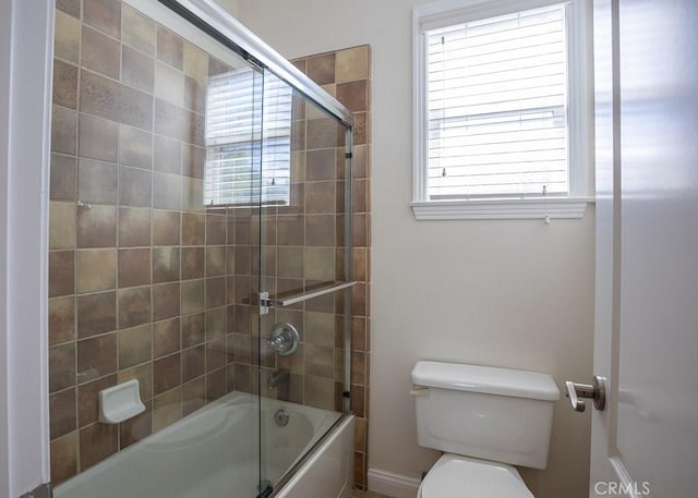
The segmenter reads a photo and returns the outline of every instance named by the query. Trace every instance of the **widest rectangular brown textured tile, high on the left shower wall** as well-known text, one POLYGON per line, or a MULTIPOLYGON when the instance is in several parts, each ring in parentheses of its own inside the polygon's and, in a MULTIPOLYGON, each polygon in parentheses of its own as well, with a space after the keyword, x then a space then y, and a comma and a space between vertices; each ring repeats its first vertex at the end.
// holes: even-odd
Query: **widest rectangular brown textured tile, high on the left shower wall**
POLYGON ((87 71, 81 71, 80 106, 84 112, 142 130, 153 125, 153 97, 87 71))

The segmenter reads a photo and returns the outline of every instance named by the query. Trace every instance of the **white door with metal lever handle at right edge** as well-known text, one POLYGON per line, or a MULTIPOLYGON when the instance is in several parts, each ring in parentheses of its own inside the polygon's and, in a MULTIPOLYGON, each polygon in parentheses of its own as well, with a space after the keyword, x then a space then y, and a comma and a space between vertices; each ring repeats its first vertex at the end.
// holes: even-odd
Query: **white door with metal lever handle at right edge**
POLYGON ((590 496, 698 497, 697 25, 696 0, 594 0, 590 496))

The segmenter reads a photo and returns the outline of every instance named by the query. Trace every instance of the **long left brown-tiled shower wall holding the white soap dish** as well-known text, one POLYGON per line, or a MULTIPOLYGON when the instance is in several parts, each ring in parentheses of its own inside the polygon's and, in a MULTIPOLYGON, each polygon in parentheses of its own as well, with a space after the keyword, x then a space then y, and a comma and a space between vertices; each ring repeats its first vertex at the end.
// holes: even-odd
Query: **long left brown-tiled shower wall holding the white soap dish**
POLYGON ((236 387, 234 223, 203 206, 205 85, 221 65, 119 1, 57 8, 53 484, 236 387), (131 378, 146 412, 98 423, 98 391, 131 378))

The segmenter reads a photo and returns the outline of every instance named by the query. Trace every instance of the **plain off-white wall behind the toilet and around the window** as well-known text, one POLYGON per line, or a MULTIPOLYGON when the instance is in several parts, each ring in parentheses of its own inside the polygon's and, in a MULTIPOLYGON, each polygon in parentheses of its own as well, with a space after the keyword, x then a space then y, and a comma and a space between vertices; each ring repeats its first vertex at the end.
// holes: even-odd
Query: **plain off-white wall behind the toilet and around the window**
MULTIPOLYGON (((591 378, 593 208, 582 220, 414 221, 411 10, 423 0, 239 0, 238 17, 288 58, 373 47, 373 250, 370 466, 419 477, 407 394, 418 359, 591 378), (272 14, 273 13, 273 14, 272 14)), ((588 496, 589 414, 556 406, 537 498, 588 496)))

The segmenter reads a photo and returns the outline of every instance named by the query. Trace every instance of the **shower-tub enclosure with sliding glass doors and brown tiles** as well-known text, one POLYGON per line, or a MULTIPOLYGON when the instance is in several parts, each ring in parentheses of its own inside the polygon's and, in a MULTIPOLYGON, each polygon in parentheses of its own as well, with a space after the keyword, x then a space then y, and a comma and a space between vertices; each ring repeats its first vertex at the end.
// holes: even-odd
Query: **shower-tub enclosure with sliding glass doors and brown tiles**
POLYGON ((353 114, 210 0, 58 3, 55 495, 347 497, 353 114))

